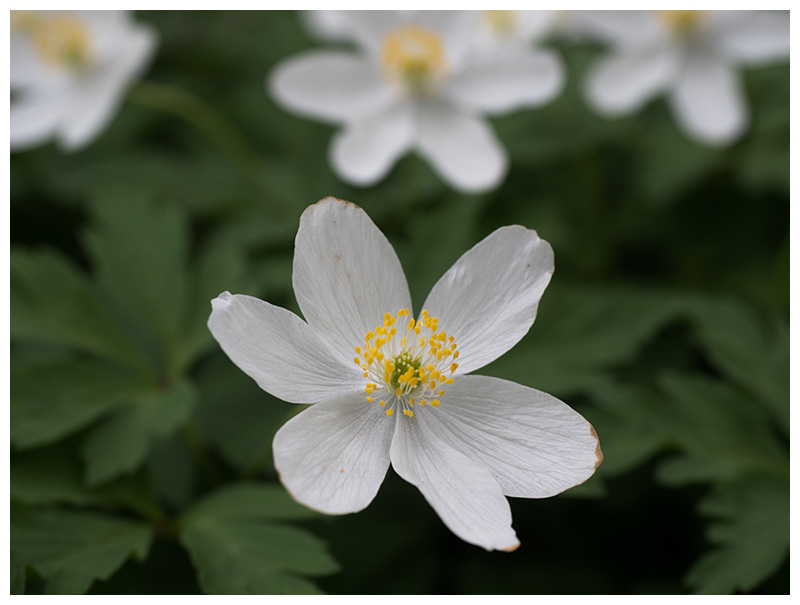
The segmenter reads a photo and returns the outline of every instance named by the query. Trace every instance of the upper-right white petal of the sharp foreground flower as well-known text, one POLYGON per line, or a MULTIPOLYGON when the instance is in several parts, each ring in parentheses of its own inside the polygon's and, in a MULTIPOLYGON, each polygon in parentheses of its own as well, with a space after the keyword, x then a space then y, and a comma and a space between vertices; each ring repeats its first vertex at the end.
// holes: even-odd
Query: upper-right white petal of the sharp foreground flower
POLYGON ((458 373, 485 366, 525 336, 553 274, 553 250, 535 231, 502 227, 468 250, 423 305, 455 338, 458 373))

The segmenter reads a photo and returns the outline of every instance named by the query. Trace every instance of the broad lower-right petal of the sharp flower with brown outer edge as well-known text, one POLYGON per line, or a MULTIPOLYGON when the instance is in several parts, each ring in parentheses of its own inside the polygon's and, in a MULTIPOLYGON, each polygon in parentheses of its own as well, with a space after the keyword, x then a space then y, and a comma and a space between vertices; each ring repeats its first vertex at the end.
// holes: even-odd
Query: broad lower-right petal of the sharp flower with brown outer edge
POLYGON ((547 498, 603 460, 597 435, 555 397, 514 382, 459 376, 437 408, 415 410, 447 444, 488 466, 506 496, 547 498))

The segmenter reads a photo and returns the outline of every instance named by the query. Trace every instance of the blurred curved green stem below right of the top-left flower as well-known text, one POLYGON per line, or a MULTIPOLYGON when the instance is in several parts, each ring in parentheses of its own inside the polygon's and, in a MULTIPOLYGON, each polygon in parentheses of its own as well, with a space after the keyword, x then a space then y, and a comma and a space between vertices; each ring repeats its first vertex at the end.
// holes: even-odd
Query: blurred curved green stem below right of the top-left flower
POLYGON ((185 120, 217 145, 244 178, 255 179, 261 164, 258 152, 228 120, 200 97, 167 84, 140 82, 130 91, 128 100, 185 120))

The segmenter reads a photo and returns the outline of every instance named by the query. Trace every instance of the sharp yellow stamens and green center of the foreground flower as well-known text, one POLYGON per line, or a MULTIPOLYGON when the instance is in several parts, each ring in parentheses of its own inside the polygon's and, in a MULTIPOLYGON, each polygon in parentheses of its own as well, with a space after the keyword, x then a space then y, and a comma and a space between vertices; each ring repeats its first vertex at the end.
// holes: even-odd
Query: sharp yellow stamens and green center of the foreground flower
POLYGON ((439 320, 423 310, 419 322, 408 309, 384 313, 383 324, 364 336, 353 361, 367 380, 367 401, 376 399, 391 416, 395 408, 414 416, 416 405, 439 405, 443 386, 453 382, 458 351, 452 336, 439 330, 439 320))

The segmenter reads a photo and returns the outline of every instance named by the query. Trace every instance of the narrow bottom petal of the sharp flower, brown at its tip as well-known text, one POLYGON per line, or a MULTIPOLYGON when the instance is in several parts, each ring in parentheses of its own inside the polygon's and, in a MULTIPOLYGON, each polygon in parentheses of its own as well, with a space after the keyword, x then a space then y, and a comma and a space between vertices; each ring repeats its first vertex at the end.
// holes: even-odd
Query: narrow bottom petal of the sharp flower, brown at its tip
POLYGON ((511 508, 489 469, 449 447, 426 423, 436 410, 398 418, 392 466, 416 486, 444 524, 459 538, 486 550, 519 546, 511 508))

